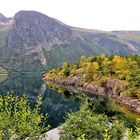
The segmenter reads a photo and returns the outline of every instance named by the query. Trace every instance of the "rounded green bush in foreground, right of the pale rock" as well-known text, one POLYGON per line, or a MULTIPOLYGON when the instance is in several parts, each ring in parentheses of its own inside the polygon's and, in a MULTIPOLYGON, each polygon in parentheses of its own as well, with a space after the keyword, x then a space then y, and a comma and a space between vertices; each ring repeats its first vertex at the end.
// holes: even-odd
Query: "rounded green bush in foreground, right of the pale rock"
POLYGON ((107 116, 94 113, 84 104, 80 111, 67 115, 60 129, 60 140, 119 140, 124 132, 123 122, 109 121, 107 116))

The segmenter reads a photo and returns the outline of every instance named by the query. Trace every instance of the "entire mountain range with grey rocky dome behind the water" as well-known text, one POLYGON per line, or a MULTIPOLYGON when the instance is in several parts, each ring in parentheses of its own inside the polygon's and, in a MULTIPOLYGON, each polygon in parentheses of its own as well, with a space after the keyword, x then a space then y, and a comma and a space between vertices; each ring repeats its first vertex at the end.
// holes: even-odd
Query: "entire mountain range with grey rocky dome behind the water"
POLYGON ((0 14, 0 64, 9 70, 38 71, 101 53, 140 54, 140 32, 75 28, 35 11, 0 14))

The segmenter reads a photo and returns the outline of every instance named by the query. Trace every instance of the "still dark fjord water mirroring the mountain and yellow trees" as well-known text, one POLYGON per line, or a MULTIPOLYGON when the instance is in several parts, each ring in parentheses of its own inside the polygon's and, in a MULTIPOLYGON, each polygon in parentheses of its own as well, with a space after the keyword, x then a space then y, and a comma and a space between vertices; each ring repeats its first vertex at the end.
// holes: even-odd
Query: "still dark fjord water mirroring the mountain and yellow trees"
MULTIPOLYGON (((6 95, 9 91, 18 96, 26 95, 32 106, 37 97, 42 95, 41 113, 48 113, 47 123, 52 127, 61 125, 67 112, 79 110, 81 99, 78 100, 78 98, 71 96, 69 92, 63 94, 49 89, 38 74, 14 73, 7 79, 2 76, 0 79, 1 95, 6 95)), ((119 105, 105 97, 95 96, 91 102, 97 113, 105 113, 108 116, 117 115, 122 119, 131 119, 131 121, 140 118, 139 114, 131 112, 126 106, 119 105)))

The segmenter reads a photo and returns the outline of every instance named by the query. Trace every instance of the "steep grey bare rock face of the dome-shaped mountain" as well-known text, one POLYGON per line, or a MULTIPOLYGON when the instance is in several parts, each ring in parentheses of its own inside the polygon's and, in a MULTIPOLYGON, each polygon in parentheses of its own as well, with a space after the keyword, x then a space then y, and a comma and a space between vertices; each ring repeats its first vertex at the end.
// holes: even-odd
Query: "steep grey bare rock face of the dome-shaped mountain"
POLYGON ((9 48, 61 44, 71 36, 71 30, 56 20, 34 11, 20 11, 14 18, 8 36, 9 48))

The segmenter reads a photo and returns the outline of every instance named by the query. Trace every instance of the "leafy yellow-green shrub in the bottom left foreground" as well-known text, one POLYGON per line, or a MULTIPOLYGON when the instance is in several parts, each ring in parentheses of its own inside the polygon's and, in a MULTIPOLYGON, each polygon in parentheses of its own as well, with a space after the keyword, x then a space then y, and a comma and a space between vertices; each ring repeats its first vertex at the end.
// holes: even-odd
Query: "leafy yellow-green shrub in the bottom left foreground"
POLYGON ((40 105, 40 97, 32 109, 26 97, 18 98, 11 93, 0 96, 0 139, 25 139, 47 131, 48 127, 42 123, 43 119, 47 119, 47 114, 45 117, 39 114, 40 105))

